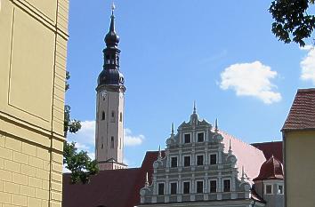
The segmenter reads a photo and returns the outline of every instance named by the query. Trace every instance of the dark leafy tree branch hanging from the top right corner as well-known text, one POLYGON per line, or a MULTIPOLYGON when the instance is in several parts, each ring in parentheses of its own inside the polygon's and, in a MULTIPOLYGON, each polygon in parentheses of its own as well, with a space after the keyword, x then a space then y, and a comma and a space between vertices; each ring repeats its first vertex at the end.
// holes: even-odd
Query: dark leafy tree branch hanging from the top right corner
POLYGON ((286 44, 292 41, 305 46, 305 38, 311 37, 315 28, 315 16, 307 10, 314 0, 274 0, 271 12, 274 22, 271 31, 286 44))

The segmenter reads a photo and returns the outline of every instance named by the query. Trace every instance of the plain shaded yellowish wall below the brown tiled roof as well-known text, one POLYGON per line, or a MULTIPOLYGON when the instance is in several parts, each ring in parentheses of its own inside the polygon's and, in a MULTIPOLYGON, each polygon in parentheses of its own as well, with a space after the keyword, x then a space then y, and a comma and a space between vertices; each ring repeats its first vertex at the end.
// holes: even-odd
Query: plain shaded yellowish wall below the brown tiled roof
POLYGON ((315 206, 315 131, 284 135, 286 206, 315 206))

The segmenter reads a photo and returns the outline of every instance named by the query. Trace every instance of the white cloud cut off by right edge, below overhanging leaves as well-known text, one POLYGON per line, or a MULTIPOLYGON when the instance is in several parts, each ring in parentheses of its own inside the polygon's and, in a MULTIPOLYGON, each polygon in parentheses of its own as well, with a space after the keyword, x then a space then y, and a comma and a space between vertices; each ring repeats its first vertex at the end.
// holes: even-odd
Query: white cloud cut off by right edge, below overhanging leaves
POLYGON ((306 57, 300 62, 302 68, 301 79, 311 81, 315 85, 315 48, 312 45, 306 45, 301 49, 308 51, 306 57))

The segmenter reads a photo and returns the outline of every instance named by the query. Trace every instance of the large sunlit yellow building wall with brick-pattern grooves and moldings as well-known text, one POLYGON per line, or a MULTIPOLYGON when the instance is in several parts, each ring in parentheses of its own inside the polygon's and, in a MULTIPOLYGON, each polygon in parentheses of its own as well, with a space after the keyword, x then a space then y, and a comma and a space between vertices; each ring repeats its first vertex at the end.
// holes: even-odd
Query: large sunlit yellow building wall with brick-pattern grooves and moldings
POLYGON ((61 206, 69 0, 0 0, 0 207, 61 206))

